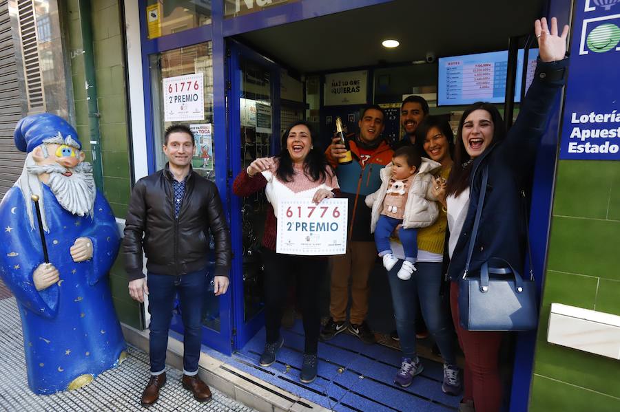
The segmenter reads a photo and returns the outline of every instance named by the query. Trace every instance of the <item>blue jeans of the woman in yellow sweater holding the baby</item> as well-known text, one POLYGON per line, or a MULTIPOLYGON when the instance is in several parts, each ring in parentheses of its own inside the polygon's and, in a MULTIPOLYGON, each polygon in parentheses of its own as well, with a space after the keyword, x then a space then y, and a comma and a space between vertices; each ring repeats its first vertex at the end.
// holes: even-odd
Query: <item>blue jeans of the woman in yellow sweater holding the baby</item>
POLYGON ((399 259, 388 272, 388 279, 403 356, 416 356, 415 312, 419 301, 428 332, 435 338, 444 362, 456 365, 454 327, 440 296, 442 263, 417 262, 417 272, 408 281, 402 281, 396 276, 401 265, 402 260, 399 259))

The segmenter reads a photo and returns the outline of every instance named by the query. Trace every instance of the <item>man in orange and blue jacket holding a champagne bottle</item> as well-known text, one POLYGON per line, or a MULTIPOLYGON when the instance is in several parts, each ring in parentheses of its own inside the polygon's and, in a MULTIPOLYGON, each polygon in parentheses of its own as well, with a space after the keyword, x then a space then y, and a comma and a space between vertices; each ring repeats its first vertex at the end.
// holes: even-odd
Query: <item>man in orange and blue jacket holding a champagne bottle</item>
POLYGON ((374 343, 375 336, 366 325, 368 314, 368 278, 377 250, 370 231, 371 210, 364 204, 366 195, 381 185, 379 171, 392 160, 393 151, 384 141, 385 113, 378 105, 367 106, 358 122, 358 135, 344 136, 342 122, 336 119, 336 135, 325 154, 335 169, 341 195, 349 199, 347 253, 330 257, 331 318, 321 330, 321 338, 329 340, 348 329, 364 343, 374 343), (351 314, 347 328, 351 279, 351 314))

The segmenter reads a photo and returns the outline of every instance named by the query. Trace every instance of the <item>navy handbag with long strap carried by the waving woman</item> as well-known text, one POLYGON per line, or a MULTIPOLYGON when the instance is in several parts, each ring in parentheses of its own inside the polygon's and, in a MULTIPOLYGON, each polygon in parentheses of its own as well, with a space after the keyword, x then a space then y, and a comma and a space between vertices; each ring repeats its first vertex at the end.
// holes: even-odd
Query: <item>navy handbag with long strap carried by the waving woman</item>
POLYGON ((506 260, 492 257, 482 264, 479 274, 468 273, 487 181, 488 167, 485 167, 465 272, 459 281, 460 323, 464 329, 471 331, 532 330, 538 323, 538 306, 531 269, 530 278, 523 279, 506 260))

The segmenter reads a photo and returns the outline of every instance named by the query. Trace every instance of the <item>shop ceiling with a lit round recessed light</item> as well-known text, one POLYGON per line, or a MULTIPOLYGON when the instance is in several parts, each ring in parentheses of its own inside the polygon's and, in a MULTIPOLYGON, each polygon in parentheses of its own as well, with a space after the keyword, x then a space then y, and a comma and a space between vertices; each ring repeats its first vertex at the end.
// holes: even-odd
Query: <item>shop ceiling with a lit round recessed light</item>
POLYGON ((533 31, 544 0, 394 0, 238 36, 300 73, 506 50, 508 38, 533 31), (384 39, 400 47, 386 49, 384 39))

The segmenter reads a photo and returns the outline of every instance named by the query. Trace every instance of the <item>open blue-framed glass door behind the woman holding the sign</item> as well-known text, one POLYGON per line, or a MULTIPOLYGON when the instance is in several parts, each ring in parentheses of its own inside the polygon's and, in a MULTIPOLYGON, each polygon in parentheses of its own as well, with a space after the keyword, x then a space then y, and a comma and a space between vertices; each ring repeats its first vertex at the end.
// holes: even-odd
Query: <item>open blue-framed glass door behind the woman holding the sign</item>
MULTIPOLYGON (((280 150, 277 65, 229 41, 229 139, 233 176, 256 158, 280 150)), ((269 204, 265 193, 245 198, 231 195, 234 282, 234 347, 243 347, 264 325, 260 244, 269 204)))

